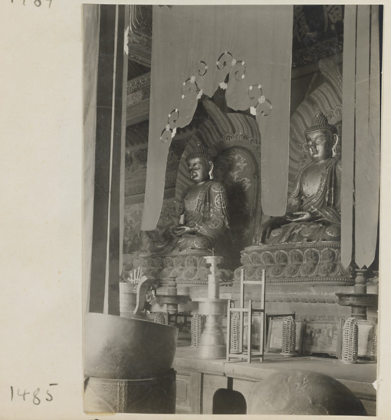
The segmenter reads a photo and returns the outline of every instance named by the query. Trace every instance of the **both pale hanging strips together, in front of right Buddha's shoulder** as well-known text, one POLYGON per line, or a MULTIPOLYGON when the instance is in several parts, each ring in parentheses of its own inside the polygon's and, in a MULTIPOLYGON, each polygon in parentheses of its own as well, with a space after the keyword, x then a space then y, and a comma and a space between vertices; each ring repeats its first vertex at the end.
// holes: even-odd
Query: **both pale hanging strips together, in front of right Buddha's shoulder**
POLYGON ((380 190, 379 6, 345 6, 342 168, 342 262, 369 267, 380 190))

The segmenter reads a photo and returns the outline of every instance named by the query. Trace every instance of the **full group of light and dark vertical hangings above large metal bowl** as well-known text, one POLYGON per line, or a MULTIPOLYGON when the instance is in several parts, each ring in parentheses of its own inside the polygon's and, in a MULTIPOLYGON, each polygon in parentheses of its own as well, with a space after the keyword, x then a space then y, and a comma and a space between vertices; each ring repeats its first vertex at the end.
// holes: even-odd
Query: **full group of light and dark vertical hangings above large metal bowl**
POLYGON ((83 6, 85 309, 119 314, 129 7, 83 6))

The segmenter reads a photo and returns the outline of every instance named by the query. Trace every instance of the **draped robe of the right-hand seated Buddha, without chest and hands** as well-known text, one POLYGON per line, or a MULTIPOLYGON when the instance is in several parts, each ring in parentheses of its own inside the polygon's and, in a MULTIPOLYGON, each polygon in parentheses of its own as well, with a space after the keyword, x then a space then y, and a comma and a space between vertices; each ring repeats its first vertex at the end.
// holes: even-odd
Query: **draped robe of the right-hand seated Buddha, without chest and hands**
POLYGON ((301 170, 287 205, 288 215, 308 211, 315 215, 315 220, 283 225, 271 232, 266 244, 341 240, 341 159, 329 158, 324 162, 316 193, 306 196, 303 194, 304 175, 318 165, 313 162, 301 170))

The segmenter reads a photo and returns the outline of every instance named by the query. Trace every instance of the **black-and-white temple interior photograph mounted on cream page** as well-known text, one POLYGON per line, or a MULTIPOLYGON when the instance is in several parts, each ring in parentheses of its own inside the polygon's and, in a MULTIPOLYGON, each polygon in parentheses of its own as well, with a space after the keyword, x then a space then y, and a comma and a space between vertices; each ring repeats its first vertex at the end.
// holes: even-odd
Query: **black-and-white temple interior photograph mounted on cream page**
POLYGON ((376 416, 382 51, 381 5, 83 6, 86 413, 376 416))

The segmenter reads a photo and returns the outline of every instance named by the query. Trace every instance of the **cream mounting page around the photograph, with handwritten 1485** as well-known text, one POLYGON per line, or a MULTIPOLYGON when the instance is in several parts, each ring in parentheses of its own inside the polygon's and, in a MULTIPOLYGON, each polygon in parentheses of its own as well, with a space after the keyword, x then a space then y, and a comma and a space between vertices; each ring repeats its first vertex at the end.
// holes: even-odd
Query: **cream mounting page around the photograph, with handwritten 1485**
MULTIPOLYGON (((34 0, 25 0, 25 6, 23 0, 11 1, 1 0, 0 6, 0 419, 149 418, 151 416, 146 414, 83 414, 81 10, 83 3, 131 2, 52 0, 49 10, 47 0, 42 0, 39 8, 34 6, 34 0), (51 387, 51 402, 43 400, 40 405, 33 405, 31 395, 27 397, 29 401, 18 398, 11 402, 11 385, 30 392, 41 388, 42 396, 50 383, 58 384, 51 387)), ((193 0, 191 3, 219 2, 193 0)), ((360 3, 378 4, 376 1, 360 3)), ((385 4, 383 45, 390 45, 387 25, 390 18, 390 9, 385 4)), ((389 69, 390 52, 385 49, 383 75, 387 75, 389 69)), ((388 194, 390 139, 385 130, 385 116, 391 114, 388 99, 390 77, 383 76, 377 384, 381 419, 390 417, 387 414, 391 391, 388 374, 391 372, 388 337, 391 318, 387 304, 391 259, 387 258, 390 248, 386 236, 391 231, 387 218, 387 209, 391 206, 388 194)), ((154 417, 177 419, 179 415, 154 417)), ((180 418, 188 417, 198 418, 180 415, 180 418)), ((226 416, 213 416, 214 420, 221 418, 226 416)), ((286 419, 286 416, 273 418, 286 419)))

